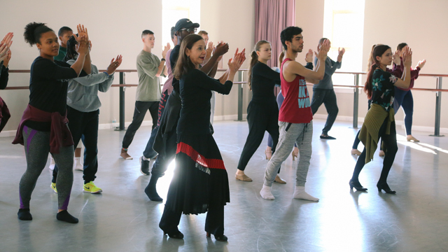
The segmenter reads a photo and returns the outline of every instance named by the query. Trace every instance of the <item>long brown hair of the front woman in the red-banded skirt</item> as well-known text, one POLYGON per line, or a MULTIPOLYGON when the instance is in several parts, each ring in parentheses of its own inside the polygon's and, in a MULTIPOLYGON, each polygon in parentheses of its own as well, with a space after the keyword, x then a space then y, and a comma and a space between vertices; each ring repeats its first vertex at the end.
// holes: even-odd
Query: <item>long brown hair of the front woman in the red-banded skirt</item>
POLYGON ((181 77, 188 73, 191 69, 195 69, 196 66, 191 62, 190 57, 187 57, 186 50, 191 50, 193 45, 200 40, 204 40, 202 36, 197 34, 190 34, 183 38, 181 43, 181 49, 179 50, 179 57, 177 58, 176 66, 174 67, 174 78, 180 80, 181 77))

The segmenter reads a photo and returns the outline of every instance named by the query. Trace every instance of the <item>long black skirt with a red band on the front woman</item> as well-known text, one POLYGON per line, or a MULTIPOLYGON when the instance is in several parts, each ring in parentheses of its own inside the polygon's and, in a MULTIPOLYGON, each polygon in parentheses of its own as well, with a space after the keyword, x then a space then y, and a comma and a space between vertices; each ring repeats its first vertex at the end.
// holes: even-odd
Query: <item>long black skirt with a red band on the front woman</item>
POLYGON ((228 174, 211 134, 182 134, 166 207, 183 214, 202 214, 230 202, 228 174))

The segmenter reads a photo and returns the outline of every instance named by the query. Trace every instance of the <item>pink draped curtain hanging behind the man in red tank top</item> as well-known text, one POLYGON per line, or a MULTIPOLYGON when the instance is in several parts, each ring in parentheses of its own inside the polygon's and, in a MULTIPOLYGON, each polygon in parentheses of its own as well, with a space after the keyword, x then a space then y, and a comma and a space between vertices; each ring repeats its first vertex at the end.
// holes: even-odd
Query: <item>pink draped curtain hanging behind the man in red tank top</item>
POLYGON ((294 25, 295 0, 255 0, 255 43, 260 40, 271 42, 269 66, 279 66, 280 33, 294 25))

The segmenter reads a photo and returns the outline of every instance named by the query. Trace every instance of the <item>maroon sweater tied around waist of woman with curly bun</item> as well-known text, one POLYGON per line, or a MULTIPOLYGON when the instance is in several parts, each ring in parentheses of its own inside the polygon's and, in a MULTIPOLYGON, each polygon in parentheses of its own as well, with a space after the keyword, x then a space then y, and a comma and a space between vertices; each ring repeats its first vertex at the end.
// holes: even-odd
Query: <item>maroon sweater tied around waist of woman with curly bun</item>
POLYGON ((51 122, 50 129, 50 153, 59 153, 61 146, 73 146, 73 137, 67 123, 69 120, 66 116, 61 116, 59 112, 46 112, 36 109, 34 106, 28 104, 27 109, 23 112, 22 120, 20 120, 19 128, 15 134, 13 144, 24 144, 23 141, 23 127, 27 120, 35 122, 51 122))

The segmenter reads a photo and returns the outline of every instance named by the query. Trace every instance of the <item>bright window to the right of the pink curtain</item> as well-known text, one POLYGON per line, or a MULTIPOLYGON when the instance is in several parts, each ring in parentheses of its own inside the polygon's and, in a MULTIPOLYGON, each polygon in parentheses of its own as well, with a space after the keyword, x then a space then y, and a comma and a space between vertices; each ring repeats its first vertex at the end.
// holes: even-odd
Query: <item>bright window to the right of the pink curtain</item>
MULTIPOLYGON (((323 36, 330 39, 328 56, 337 59, 338 48, 345 48, 338 71, 363 71, 364 0, 325 0, 323 36)), ((353 83, 353 76, 335 74, 336 85, 353 83)))

